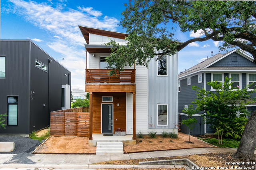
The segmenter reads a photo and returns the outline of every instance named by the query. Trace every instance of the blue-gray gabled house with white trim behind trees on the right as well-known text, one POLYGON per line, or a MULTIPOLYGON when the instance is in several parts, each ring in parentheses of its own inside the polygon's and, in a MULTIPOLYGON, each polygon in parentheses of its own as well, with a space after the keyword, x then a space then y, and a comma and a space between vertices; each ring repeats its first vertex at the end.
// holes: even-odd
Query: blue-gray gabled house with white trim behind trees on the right
MULTIPOLYGON (((193 85, 204 88, 207 91, 214 91, 206 82, 224 82, 225 77, 232 77, 232 86, 238 86, 240 89, 253 82, 256 85, 256 64, 253 63, 253 57, 234 49, 224 54, 218 53, 180 73, 178 75, 178 109, 180 121, 182 119, 188 119, 182 110, 184 107, 192 105, 191 102, 196 99, 196 91, 192 90, 193 85)), ((248 90, 255 88, 256 86, 250 86, 248 90)), ((252 96, 256 97, 256 93, 253 93, 252 96)), ((256 103, 246 107, 251 113, 255 108, 256 103)), ((194 117, 198 119, 198 123, 191 131, 191 134, 214 133, 210 125, 204 124, 203 118, 200 115, 195 115, 194 117)), ((181 131, 188 134, 188 127, 181 125, 181 131)))

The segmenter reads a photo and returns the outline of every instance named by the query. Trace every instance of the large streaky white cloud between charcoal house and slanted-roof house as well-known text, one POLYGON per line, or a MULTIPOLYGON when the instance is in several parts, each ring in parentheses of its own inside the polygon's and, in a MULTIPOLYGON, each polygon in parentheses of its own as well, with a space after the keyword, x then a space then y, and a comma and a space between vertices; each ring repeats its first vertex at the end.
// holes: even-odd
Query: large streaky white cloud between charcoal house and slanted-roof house
MULTIPOLYGON (((37 28, 47 31, 51 40, 46 45, 58 53, 54 57, 60 64, 65 61, 65 67, 72 72, 72 88, 84 89, 85 79, 85 49, 86 43, 78 25, 116 31, 119 20, 103 16, 102 12, 92 7, 67 8, 64 2, 47 3, 32 0, 10 0, 12 5, 4 8, 32 23, 37 28), (50 5, 49 5, 50 4, 50 5)), ((1 8, 2 10, 2 8, 1 8)), ((42 42, 40 39, 33 39, 42 42)))

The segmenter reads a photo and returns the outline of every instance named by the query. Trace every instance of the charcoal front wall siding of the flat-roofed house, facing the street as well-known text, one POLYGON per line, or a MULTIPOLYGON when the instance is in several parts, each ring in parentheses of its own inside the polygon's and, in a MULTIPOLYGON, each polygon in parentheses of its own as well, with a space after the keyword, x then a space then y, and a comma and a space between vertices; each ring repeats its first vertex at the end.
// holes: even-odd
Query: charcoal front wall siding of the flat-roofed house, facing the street
POLYGON ((0 133, 29 133, 30 41, 1 40, 1 55, 6 56, 6 78, 0 79, 0 114, 7 113, 7 96, 18 96, 18 126, 0 128, 0 133))

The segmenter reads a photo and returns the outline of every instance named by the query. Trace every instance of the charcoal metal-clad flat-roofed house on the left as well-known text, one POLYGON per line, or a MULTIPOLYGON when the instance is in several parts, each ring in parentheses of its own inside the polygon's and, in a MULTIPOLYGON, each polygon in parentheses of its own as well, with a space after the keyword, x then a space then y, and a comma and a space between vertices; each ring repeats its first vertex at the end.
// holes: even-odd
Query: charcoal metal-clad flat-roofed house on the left
POLYGON ((50 125, 50 111, 70 108, 71 72, 31 40, 0 42, 0 134, 29 134, 50 125))

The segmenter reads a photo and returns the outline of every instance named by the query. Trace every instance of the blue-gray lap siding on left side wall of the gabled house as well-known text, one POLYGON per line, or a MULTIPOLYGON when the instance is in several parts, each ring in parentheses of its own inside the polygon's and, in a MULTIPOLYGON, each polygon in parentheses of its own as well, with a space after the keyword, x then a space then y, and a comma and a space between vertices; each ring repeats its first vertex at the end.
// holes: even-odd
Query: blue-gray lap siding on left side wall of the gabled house
MULTIPOLYGON (((191 79, 191 85, 187 85, 188 79, 182 79, 180 80, 180 92, 179 95, 179 113, 183 113, 182 110, 184 109, 184 105, 193 105, 191 102, 195 101, 197 95, 196 91, 192 90, 192 86, 196 85, 199 88, 204 87, 204 73, 202 74, 202 83, 198 83, 198 75, 194 75, 190 77, 191 79)), ((196 105, 193 105, 196 107, 196 105)))

